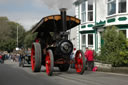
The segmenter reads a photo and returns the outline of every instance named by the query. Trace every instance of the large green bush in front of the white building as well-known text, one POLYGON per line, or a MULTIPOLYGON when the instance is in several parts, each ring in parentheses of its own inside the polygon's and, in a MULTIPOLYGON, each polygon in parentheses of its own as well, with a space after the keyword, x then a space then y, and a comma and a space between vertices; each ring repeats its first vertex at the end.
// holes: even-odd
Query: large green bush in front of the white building
POLYGON ((115 26, 105 29, 102 35, 104 44, 101 47, 100 56, 97 57, 99 60, 111 63, 113 66, 120 66, 128 62, 128 59, 125 60, 126 55, 128 55, 126 38, 117 29, 115 26))

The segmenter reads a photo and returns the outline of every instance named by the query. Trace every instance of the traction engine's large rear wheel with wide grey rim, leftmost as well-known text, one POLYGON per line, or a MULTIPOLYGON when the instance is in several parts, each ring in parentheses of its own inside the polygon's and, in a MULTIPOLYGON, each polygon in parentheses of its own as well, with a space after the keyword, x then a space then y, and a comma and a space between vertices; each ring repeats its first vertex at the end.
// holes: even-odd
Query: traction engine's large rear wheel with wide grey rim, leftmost
POLYGON ((33 72, 39 72, 41 69, 41 46, 39 43, 33 43, 31 49, 31 65, 33 72))

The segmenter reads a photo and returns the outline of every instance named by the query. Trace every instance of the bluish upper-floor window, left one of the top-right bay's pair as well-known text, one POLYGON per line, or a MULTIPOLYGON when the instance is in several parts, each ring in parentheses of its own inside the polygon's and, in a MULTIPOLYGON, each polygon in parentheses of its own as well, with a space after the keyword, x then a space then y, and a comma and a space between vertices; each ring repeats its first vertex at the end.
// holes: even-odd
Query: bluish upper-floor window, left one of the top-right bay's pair
POLYGON ((108 15, 116 13, 116 0, 108 0, 108 15))

